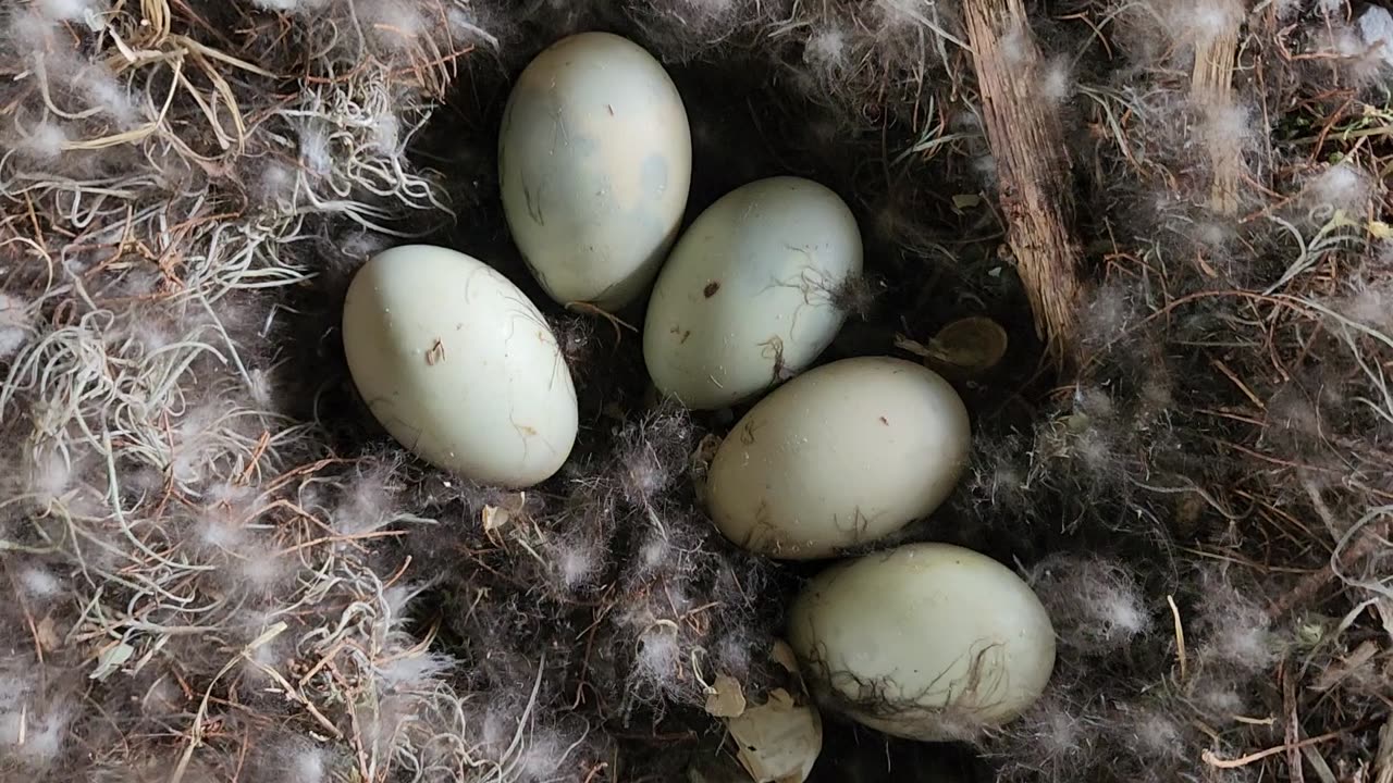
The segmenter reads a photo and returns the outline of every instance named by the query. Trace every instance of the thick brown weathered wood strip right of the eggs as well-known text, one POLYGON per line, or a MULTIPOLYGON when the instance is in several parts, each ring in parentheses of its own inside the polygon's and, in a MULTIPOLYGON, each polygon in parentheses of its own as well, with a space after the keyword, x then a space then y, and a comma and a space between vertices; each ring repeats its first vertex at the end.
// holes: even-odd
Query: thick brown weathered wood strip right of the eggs
POLYGON ((1042 95, 1041 54, 1021 0, 967 0, 968 42, 986 137, 996 157, 1007 242, 1031 300, 1035 330, 1060 365, 1073 364, 1082 301, 1081 254, 1064 131, 1042 95))

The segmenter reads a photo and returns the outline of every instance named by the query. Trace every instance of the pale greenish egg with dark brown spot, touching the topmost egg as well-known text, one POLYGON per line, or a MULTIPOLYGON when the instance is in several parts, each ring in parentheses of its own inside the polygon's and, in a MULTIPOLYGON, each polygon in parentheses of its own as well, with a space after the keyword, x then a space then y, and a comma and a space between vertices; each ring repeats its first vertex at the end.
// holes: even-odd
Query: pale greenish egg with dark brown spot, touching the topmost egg
POLYGON ((837 293, 861 272, 861 233, 829 188, 772 177, 692 222, 657 274, 644 361, 664 396, 720 408, 801 372, 832 343, 837 293))

